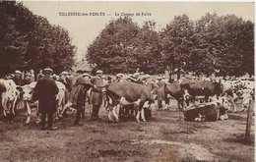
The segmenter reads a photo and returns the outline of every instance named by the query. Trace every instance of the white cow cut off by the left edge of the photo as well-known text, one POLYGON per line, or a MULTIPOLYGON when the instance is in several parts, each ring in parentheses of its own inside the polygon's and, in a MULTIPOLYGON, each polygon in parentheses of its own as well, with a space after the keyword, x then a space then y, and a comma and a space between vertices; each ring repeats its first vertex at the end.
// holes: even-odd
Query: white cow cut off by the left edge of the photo
POLYGON ((1 94, 3 114, 7 116, 7 114, 12 112, 15 115, 15 104, 19 95, 16 89, 17 85, 12 80, 0 80, 0 83, 5 87, 1 94))

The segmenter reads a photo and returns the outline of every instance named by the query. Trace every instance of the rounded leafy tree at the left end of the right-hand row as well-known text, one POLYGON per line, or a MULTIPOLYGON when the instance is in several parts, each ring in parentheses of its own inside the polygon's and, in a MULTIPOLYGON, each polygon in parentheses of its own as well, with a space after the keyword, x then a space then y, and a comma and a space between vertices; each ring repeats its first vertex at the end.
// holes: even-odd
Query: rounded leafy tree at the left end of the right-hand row
POLYGON ((134 38, 140 31, 130 18, 111 21, 88 48, 87 59, 108 74, 132 73, 136 65, 134 38))

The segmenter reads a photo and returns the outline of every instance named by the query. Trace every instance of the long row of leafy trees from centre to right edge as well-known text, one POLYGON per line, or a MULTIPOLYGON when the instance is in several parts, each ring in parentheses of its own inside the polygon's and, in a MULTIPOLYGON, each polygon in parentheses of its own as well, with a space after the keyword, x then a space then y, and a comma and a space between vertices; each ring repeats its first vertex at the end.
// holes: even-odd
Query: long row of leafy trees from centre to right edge
POLYGON ((94 70, 108 74, 254 74, 252 22, 207 13, 198 21, 176 16, 160 31, 156 25, 151 21, 139 27, 127 17, 110 21, 89 46, 86 58, 94 70))

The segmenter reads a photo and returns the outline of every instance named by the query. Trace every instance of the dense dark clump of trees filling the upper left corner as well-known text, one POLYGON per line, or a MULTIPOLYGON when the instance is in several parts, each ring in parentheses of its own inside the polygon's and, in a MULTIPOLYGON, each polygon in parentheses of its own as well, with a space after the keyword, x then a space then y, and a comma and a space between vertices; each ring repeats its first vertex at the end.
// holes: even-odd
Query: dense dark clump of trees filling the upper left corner
POLYGON ((1 76, 45 67, 59 73, 74 65, 76 46, 65 28, 50 25, 15 1, 0 2, 0 20, 1 76))

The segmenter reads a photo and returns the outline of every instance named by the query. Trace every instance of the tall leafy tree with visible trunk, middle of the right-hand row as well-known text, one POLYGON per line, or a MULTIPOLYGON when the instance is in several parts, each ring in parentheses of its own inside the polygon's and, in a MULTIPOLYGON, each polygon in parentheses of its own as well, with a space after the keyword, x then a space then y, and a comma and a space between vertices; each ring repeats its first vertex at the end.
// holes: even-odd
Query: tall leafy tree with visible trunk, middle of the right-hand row
MULTIPOLYGON (((191 36, 193 35, 193 23, 187 15, 174 17, 160 32, 162 55, 165 65, 176 68, 177 78, 180 78, 180 70, 186 69, 190 60, 190 49, 193 47, 191 36)), ((170 75, 171 76, 171 75, 170 75)))

